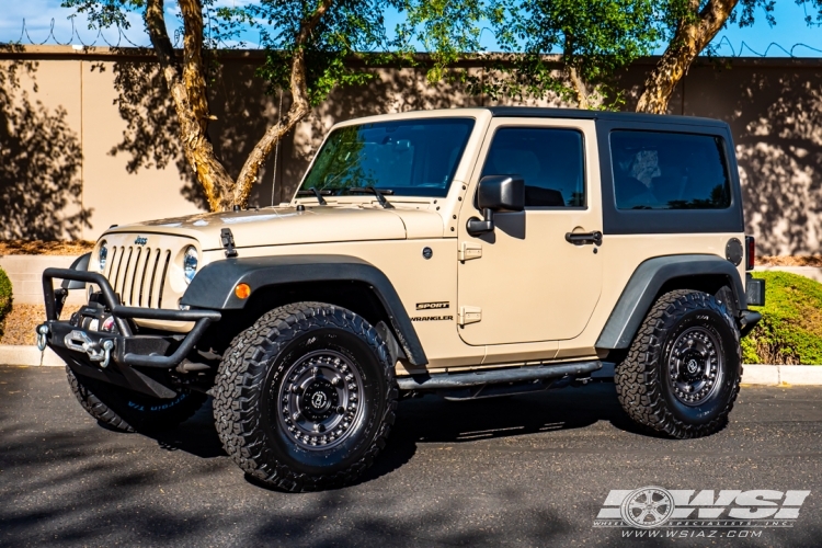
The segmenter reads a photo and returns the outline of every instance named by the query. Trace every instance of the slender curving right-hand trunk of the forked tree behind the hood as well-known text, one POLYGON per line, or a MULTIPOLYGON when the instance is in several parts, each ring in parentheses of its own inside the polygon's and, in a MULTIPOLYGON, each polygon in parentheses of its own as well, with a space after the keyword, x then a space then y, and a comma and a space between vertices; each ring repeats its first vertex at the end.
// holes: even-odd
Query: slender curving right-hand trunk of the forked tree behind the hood
POLYGON ((305 44, 311 35, 311 32, 326 14, 329 7, 334 0, 322 0, 310 18, 300 23, 299 32, 296 36, 294 57, 292 58, 292 105, 285 117, 276 125, 270 127, 262 139, 254 146, 246 163, 237 178, 237 185, 233 190, 233 203, 246 206, 251 194, 251 187, 256 182, 263 162, 269 157, 277 142, 297 125, 302 118, 311 112, 311 105, 308 101, 308 82, 306 79, 306 55, 305 44))

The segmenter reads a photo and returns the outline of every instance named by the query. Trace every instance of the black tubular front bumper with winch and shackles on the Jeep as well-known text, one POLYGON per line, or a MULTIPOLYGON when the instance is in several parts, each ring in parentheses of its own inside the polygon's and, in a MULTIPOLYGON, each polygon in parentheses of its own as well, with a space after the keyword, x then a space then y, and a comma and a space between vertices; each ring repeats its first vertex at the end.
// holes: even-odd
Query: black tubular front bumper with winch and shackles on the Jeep
POLYGON ((102 274, 71 269, 46 269, 43 273, 46 321, 37 327, 37 344, 48 346, 82 375, 125 386, 160 398, 174 392, 158 384, 150 373, 176 367, 194 350, 208 326, 221 318, 216 310, 167 310, 126 307, 102 274), (54 278, 92 283, 100 287, 106 312, 114 318, 117 332, 81 329, 60 321, 65 289, 56 294, 54 278), (132 319, 194 321, 185 335, 140 335, 134 333, 132 319), (142 368, 142 372, 134 367, 142 368))

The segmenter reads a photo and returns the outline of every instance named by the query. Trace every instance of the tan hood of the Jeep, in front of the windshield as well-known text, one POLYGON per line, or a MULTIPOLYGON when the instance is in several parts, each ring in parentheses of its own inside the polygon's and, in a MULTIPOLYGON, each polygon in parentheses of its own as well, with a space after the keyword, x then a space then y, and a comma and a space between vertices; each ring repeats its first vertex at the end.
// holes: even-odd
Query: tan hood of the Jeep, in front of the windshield
POLYGON ((107 232, 189 236, 204 250, 220 249, 220 230, 230 228, 238 248, 334 241, 441 238, 442 217, 422 209, 362 206, 265 207, 123 225, 107 232))

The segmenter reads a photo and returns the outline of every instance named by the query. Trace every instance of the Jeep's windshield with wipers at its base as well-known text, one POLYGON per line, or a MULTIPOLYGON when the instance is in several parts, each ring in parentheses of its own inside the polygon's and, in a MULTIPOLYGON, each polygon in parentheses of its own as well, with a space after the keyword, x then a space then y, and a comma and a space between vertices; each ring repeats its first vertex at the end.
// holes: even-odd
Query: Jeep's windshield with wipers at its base
POLYGON ((300 194, 383 194, 443 197, 463 156, 472 118, 377 122, 335 129, 326 140, 300 194))

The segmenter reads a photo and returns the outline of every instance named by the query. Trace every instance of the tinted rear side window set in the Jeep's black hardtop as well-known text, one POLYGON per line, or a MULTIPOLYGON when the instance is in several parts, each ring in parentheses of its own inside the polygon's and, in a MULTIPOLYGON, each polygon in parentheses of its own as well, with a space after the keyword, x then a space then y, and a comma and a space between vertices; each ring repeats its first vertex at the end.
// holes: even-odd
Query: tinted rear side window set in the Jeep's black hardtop
POLYGON ((613 132, 610 161, 617 209, 724 209, 731 205, 721 137, 613 132))

